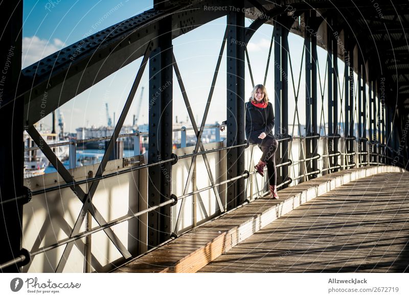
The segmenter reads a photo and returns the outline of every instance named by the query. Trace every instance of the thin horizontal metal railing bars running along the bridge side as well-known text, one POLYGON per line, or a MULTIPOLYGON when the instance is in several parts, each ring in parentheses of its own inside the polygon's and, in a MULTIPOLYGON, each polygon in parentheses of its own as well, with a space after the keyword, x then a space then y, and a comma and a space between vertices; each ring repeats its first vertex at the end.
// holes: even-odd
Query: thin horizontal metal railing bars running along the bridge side
MULTIPOLYGON (((220 142, 220 127, 222 127, 222 126, 225 126, 225 125, 216 124, 216 125, 206 126, 206 128, 215 128, 216 129, 216 142, 220 142)), ((193 128, 182 127, 180 129, 173 130, 173 131, 181 131, 182 132, 181 140, 183 140, 185 138, 185 143, 181 142, 181 148, 184 148, 183 146, 186 147, 186 132, 188 130, 193 130, 193 128)), ((133 132, 133 133, 128 133, 128 134, 122 134, 122 135, 120 135, 120 137, 129 137, 129 136, 137 137, 138 142, 136 144, 138 145, 137 147, 139 148, 139 137, 141 135, 143 135, 143 134, 146 134, 146 133, 147 132, 133 132)), ((339 136, 339 135, 336 135, 336 136, 319 136, 319 135, 313 135, 313 136, 286 136, 286 137, 283 137, 282 139, 279 139, 278 141, 279 142, 292 141, 293 139, 302 140, 302 139, 311 139, 311 138, 315 138, 315 137, 324 138, 324 139, 325 138, 327 138, 327 139, 340 138, 340 139, 344 139, 344 140, 356 140, 358 142, 365 141, 367 143, 371 143, 366 138, 342 137, 342 136, 339 136)), ((104 137, 103 139, 109 139, 109 138, 110 137, 104 137)), ((102 140, 102 138, 79 140, 77 142, 62 142, 62 143, 59 143, 59 144, 51 144, 50 147, 64 146, 64 145, 67 145, 67 144, 70 144, 70 146, 73 145, 75 147, 77 144, 86 143, 86 142, 93 142, 93 141, 100 141, 100 140, 102 140)), ((130 166, 127 169, 120 170, 120 171, 110 173, 110 174, 106 174, 106 175, 103 175, 103 176, 100 176, 100 177, 93 177, 93 178, 83 179, 83 180, 79 180, 79 181, 74 181, 74 182, 71 182, 71 183, 66 183, 66 184, 63 184, 63 185, 55 186, 55 187, 49 187, 49 188, 45 188, 45 189, 38 190, 38 191, 33 191, 33 192, 29 191, 25 195, 18 196, 18 197, 9 199, 9 200, 5 200, 1 204, 16 202, 16 201, 19 201, 19 200, 27 200, 28 198, 31 198, 32 196, 35 196, 35 195, 44 194, 44 193, 52 192, 52 191, 55 191, 55 190, 61 190, 61 189, 64 189, 64 188, 69 188, 69 187, 78 186, 78 185, 82 185, 82 184, 87 184, 88 182, 97 181, 97 180, 101 180, 101 179, 105 179, 105 178, 109 178, 109 177, 113 177, 113 176, 118 176, 118 175, 121 175, 121 174, 124 174, 124 173, 129 173, 129 172, 132 172, 132 171, 138 171, 138 170, 153 167, 153 166, 159 166, 159 165, 163 165, 163 164, 166 164, 166 163, 172 163, 172 165, 173 165, 173 164, 177 163, 177 161, 179 159, 183 159, 183 158, 192 158, 194 156, 198 156, 198 155, 202 155, 202 154, 220 152, 220 151, 223 151, 223 150, 229 150, 229 149, 239 148, 239 147, 248 147, 248 144, 245 143, 245 144, 235 145, 235 146, 231 146, 231 147, 223 147, 223 148, 217 148, 217 149, 212 149, 212 150, 207 150, 207 151, 194 152, 194 153, 185 154, 185 155, 182 155, 182 156, 177 156, 175 154, 172 154, 171 158, 160 161, 160 162, 151 163, 151 164, 144 164, 144 165, 139 165, 139 166, 130 166)), ((340 156, 340 155, 345 156, 345 157, 346 156, 354 156, 354 155, 358 155, 358 156, 368 155, 368 157, 376 156, 377 157, 377 162, 371 162, 369 160, 370 158, 368 158, 368 161, 365 162, 365 163, 358 163, 358 164, 351 163, 351 164, 347 164, 347 165, 343 165, 343 166, 335 165, 333 167, 328 167, 328 168, 325 168, 325 169, 317 169, 315 171, 306 172, 304 174, 301 174, 301 175, 293 177, 293 178, 287 177, 277 187, 280 188, 280 187, 283 187, 285 185, 291 184, 291 182, 293 182, 294 180, 301 179, 301 178, 303 178, 305 176, 309 176, 309 175, 313 175, 313 174, 323 174, 324 171, 338 170, 340 168, 350 168, 350 167, 356 167, 356 166, 359 167, 359 165, 381 165, 382 163, 379 162, 379 158, 380 159, 385 158, 385 159, 388 159, 388 160, 393 160, 392 157, 383 155, 385 150, 383 150, 382 154, 379 154, 378 152, 370 152, 370 150, 371 150, 370 147, 378 147, 378 148, 383 147, 383 148, 389 149, 391 152, 394 152, 394 153, 397 152, 396 150, 394 150, 390 146, 385 146, 383 144, 378 144, 378 143, 371 143, 371 146, 368 146, 368 147, 369 147, 368 151, 366 151, 366 152, 355 152, 354 151, 354 152, 344 153, 344 152, 337 151, 335 153, 324 154, 324 155, 320 155, 320 154, 316 153, 314 156, 312 156, 310 158, 299 159, 298 161, 295 161, 295 162, 288 159, 287 161, 284 161, 284 162, 278 164, 276 167, 277 168, 284 167, 284 166, 289 167, 291 165, 297 165, 297 164, 300 164, 302 162, 305 163, 305 162, 308 162, 308 161, 312 161, 313 159, 319 159, 320 160, 321 158, 330 158, 330 157, 340 156)), ((36 149, 39 149, 39 148, 38 147, 31 147, 31 148, 27 148, 26 150, 29 151, 29 150, 36 150, 36 149)), ((201 189, 192 191, 192 192, 184 194, 184 195, 182 195, 180 197, 176 197, 176 195, 172 194, 167 201, 165 201, 163 203, 160 203, 160 204, 158 204, 158 205, 156 205, 154 207, 150 207, 150 208, 147 208, 145 210, 139 211, 137 213, 133 213, 131 215, 126 215, 126 216, 117 218, 115 220, 107 222, 106 224, 103 224, 103 225, 100 225, 98 227, 92 228, 92 229, 90 229, 88 231, 79 233, 79 234, 77 234, 77 235, 75 235, 73 237, 68 237, 68 238, 62 239, 60 241, 57 241, 56 243, 53 243, 51 245, 47 245, 47 246, 38 248, 38 249, 36 249, 34 251, 31 251, 31 252, 28 252, 27 250, 22 250, 23 253, 21 255, 17 256, 13 260, 10 260, 10 261, 8 261, 6 263, 0 264, 0 269, 3 269, 5 267, 8 267, 8 266, 11 266, 11 265, 14 265, 14 264, 20 264, 22 262, 28 262, 28 261, 30 261, 30 259, 32 257, 34 257, 34 256, 36 256, 38 254, 45 253, 46 251, 57 248, 57 247, 59 247, 61 245, 65 245, 67 243, 70 243, 70 242, 79 240, 81 238, 87 237, 89 235, 92 235, 92 234, 97 233, 99 231, 105 230, 106 228, 109 228, 109 227, 111 227, 113 225, 116 225, 116 224, 122 223, 124 221, 130 220, 132 218, 139 217, 139 216, 144 215, 144 214, 146 214, 148 212, 151 212, 151 211, 154 211, 154 210, 156 210, 158 208, 164 207, 165 205, 169 205, 169 204, 175 205, 179 199, 184 199, 184 198, 192 196, 194 194, 198 194, 200 192, 210 190, 211 188, 214 188, 214 187, 217 187, 217 186, 228 184, 230 182, 233 182, 233 181, 241 179, 241 178, 246 179, 246 178, 248 178, 248 177, 250 177, 252 175, 256 175, 256 174, 257 174, 257 171, 249 172, 249 171, 246 170, 241 175, 238 175, 236 177, 221 181, 221 182, 219 182, 217 184, 214 184, 214 185, 211 185, 211 186, 208 186, 208 187, 205 187, 205 188, 201 188, 201 189)), ((265 195, 267 193, 268 193, 268 191, 262 193, 261 196, 263 196, 263 195, 265 195)), ((249 200, 246 199, 246 202, 244 204, 247 204, 248 202, 249 202, 249 200)))

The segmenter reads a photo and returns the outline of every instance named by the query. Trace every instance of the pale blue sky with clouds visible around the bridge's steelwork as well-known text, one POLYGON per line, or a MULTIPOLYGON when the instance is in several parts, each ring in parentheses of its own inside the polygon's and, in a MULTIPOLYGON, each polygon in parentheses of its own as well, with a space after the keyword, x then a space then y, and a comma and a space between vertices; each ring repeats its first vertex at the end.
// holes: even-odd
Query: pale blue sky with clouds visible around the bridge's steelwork
MULTIPOLYGON (((153 1, 130 0, 25 0, 23 25, 23 55, 22 65, 27 67, 39 59, 46 57, 85 36, 94 34, 118 22, 140 14, 152 8, 153 1)), ((251 20, 246 19, 249 26, 251 20)), ((216 19, 206 25, 173 39, 173 51, 184 81, 187 95, 192 106, 196 122, 202 120, 203 111, 210 91, 220 46, 226 26, 226 17, 216 19)), ((249 60, 255 83, 263 83, 272 26, 263 25, 247 45, 249 60)), ((295 87, 298 87, 298 76, 301 65, 303 38, 289 35, 289 48, 294 73, 295 87)), ((273 48, 274 53, 274 48, 273 48)), ((321 80, 324 83, 326 52, 318 48, 321 80)), ((108 103, 109 116, 118 120, 131 84, 137 74, 142 58, 121 68, 97 83, 93 87, 77 95, 71 101, 60 107, 65 121, 65 131, 75 132, 77 127, 102 126, 107 124, 105 104, 108 103), (115 113, 115 117, 114 117, 115 113)), ((304 60, 305 61, 305 60, 304 60)), ((343 63, 339 64, 339 75, 343 74, 343 63)), ((267 92, 270 99, 274 98, 274 60, 271 57, 267 77, 267 92)), ((304 67, 303 67, 304 68, 304 67)), ((299 113, 301 119, 305 114, 304 70, 301 73, 299 94, 299 113)), ((292 123, 295 105, 291 74, 289 82, 289 122, 292 123)), ((342 84, 342 82, 341 82, 342 84)), ((142 101, 138 124, 148 122, 148 67, 142 77, 137 94, 125 120, 132 124, 133 114, 138 114, 139 101, 142 101), (144 92, 142 94, 142 87, 144 92)), ((173 79, 173 121, 187 120, 187 110, 181 96, 176 77, 173 79)), ((253 89, 246 63, 245 96, 249 97, 253 89)), ((326 90, 323 90, 326 94, 326 90)), ((324 96, 326 110, 326 95, 324 96)), ((319 99, 320 89, 319 89, 319 99)), ((319 100, 320 101, 320 100, 319 100)), ((319 111, 321 103, 319 104, 319 111)), ((325 116, 326 118, 326 116, 325 116)), ((225 50, 221 62, 215 91, 207 118, 207 124, 221 123, 226 119, 226 60, 225 50)), ((45 127, 51 126, 51 116, 42 120, 45 127)))

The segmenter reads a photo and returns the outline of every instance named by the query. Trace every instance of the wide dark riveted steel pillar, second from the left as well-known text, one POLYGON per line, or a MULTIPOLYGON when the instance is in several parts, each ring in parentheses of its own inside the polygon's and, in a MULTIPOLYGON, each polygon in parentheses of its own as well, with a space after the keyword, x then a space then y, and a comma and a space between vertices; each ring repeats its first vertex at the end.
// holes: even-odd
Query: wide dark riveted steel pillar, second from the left
MULTIPOLYGON (((149 149, 148 163, 169 159, 172 154, 172 18, 161 21, 158 47, 149 57, 149 149)), ((148 170, 148 205, 170 199, 170 163, 148 170)), ((166 205, 148 214, 148 249, 170 238, 171 207, 166 205)))

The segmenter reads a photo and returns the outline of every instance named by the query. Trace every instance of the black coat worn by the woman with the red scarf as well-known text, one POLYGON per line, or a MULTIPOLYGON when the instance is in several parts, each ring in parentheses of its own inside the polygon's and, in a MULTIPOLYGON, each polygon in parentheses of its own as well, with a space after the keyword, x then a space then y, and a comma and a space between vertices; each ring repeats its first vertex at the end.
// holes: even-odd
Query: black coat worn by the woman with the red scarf
POLYGON ((256 107, 251 102, 246 103, 246 138, 250 143, 256 143, 262 132, 274 137, 273 127, 274 111, 270 102, 265 108, 256 107))

